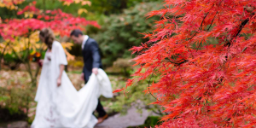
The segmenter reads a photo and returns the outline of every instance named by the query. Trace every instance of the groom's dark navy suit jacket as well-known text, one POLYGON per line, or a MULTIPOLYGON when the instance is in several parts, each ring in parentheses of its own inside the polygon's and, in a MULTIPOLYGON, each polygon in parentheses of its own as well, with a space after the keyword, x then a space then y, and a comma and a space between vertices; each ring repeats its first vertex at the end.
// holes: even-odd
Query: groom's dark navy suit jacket
POLYGON ((89 80, 90 74, 92 73, 92 68, 102 68, 100 49, 94 39, 87 39, 86 43, 84 44, 82 54, 84 57, 84 80, 87 82, 89 80))

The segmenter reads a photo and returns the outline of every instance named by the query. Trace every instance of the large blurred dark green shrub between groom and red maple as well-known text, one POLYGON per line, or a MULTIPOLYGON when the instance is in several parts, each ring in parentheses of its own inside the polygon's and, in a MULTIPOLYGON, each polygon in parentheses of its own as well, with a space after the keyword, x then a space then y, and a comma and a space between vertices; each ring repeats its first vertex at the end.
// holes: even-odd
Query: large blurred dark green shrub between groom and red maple
POLYGON ((111 66, 113 61, 121 57, 131 57, 132 46, 137 46, 147 39, 139 32, 149 32, 154 20, 160 17, 146 19, 149 11, 161 9, 160 3, 139 3, 135 7, 125 9, 123 14, 111 15, 104 19, 101 32, 93 35, 102 49, 103 64, 111 66))

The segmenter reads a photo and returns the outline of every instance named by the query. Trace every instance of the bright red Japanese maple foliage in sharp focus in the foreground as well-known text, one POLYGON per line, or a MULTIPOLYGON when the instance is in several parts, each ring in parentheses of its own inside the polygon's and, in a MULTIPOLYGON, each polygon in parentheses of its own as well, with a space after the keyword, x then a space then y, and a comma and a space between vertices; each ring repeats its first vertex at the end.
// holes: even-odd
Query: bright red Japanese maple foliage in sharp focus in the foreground
POLYGON ((167 113, 159 127, 255 126, 256 1, 165 5, 148 13, 161 15, 150 40, 131 49, 141 68, 127 86, 160 75, 148 88, 167 113))

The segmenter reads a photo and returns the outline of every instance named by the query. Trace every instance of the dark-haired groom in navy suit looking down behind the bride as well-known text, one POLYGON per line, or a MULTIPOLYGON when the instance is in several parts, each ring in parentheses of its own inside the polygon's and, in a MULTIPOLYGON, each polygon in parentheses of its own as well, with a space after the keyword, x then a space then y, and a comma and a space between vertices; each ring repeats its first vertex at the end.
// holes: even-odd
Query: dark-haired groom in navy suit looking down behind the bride
MULTIPOLYGON (((102 68, 102 61, 99 52, 99 47, 96 41, 84 35, 79 29, 73 30, 70 37, 75 44, 82 44, 82 54, 84 57, 84 68, 81 74, 81 79, 84 79, 85 84, 88 82, 91 73, 98 73, 98 68, 102 68)), ((102 123, 104 119, 108 118, 108 114, 102 107, 100 99, 96 111, 99 113, 98 124, 102 123)))

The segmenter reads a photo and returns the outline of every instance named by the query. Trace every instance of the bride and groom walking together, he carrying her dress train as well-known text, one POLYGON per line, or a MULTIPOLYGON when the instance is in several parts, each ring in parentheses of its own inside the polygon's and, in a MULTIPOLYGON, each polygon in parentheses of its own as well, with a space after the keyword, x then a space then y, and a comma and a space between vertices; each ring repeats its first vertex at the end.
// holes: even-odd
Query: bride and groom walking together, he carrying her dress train
POLYGON ((102 70, 98 44, 78 29, 70 36, 74 43, 82 44, 84 68, 81 78, 85 85, 79 91, 74 88, 64 71, 67 65, 64 49, 55 41, 52 30, 41 30, 39 38, 48 49, 42 61, 32 128, 92 128, 108 117, 99 96, 111 98, 113 94, 108 76, 102 70), (93 114, 95 110, 99 113, 98 119, 93 114))

